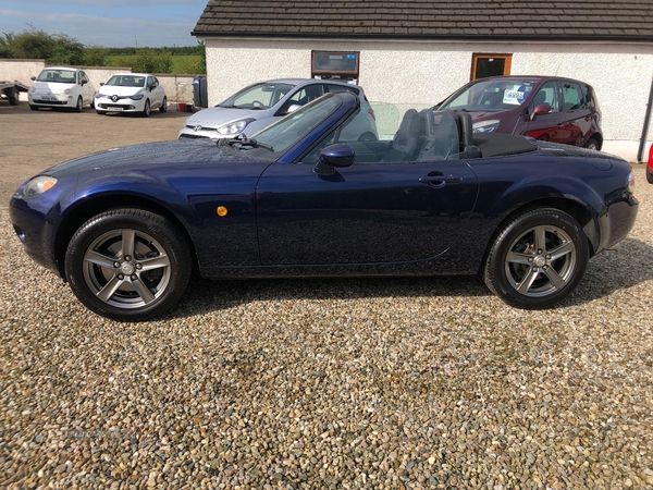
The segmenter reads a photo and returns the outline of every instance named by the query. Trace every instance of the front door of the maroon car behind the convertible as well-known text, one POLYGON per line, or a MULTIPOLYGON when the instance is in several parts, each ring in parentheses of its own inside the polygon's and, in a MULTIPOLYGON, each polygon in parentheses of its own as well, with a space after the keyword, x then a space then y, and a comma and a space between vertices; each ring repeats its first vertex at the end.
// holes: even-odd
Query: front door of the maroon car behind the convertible
POLYGON ((540 86, 521 118, 520 126, 516 127, 515 134, 522 134, 544 142, 557 142, 560 139, 560 131, 565 123, 565 115, 560 112, 559 87, 556 81, 547 81, 540 86), (534 108, 547 103, 551 112, 534 114, 534 108))

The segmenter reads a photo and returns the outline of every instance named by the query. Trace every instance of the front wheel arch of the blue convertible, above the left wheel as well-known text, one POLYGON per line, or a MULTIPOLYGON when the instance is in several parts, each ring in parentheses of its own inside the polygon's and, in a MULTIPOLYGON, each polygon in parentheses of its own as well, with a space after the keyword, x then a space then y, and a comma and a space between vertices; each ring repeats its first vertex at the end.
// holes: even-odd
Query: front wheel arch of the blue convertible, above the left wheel
POLYGON ((189 246, 194 269, 197 268, 197 254, 190 234, 188 233, 188 230, 182 220, 180 220, 176 215, 171 212, 170 209, 161 206, 158 203, 138 196, 111 195, 109 197, 107 195, 101 195, 90 198, 88 201, 85 201, 83 205, 77 206, 66 213, 66 217, 57 231, 54 256, 57 259, 59 273, 62 278, 65 278, 65 253, 71 238, 77 232, 77 230, 94 216, 110 211, 112 209, 122 208, 134 208, 141 209, 144 211, 150 211, 165 218, 173 223, 184 234, 183 237, 189 246), (107 200, 110 200, 111 204, 107 205, 107 200))

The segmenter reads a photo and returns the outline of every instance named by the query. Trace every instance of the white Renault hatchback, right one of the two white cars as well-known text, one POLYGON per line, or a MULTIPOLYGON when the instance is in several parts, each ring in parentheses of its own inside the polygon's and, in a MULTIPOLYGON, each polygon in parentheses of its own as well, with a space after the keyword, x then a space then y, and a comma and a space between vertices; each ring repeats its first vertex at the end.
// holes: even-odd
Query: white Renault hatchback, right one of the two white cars
POLYGON ((168 97, 159 79, 149 73, 116 73, 95 95, 98 114, 128 112, 148 117, 152 109, 168 110, 168 97))

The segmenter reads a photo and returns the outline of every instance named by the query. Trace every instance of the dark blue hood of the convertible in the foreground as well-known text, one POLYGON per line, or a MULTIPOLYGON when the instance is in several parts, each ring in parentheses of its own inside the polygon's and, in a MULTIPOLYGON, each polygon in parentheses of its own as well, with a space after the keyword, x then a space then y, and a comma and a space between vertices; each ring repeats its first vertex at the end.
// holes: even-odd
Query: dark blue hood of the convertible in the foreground
POLYGON ((54 177, 78 175, 79 181, 90 180, 106 174, 147 173, 152 169, 172 168, 171 172, 183 173, 190 167, 215 167, 243 162, 270 162, 247 157, 229 146, 207 140, 174 139, 171 142, 145 143, 124 146, 81 157, 52 167, 44 174, 54 177))

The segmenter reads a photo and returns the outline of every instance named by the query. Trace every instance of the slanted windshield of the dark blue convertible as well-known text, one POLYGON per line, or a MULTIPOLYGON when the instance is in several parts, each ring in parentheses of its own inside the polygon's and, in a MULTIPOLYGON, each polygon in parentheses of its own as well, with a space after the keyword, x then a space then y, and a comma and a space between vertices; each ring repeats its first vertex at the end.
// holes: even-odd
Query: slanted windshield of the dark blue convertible
POLYGON ((256 143, 239 145, 248 156, 275 159, 315 130, 342 105, 342 99, 326 95, 251 135, 256 143))

